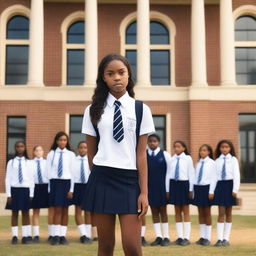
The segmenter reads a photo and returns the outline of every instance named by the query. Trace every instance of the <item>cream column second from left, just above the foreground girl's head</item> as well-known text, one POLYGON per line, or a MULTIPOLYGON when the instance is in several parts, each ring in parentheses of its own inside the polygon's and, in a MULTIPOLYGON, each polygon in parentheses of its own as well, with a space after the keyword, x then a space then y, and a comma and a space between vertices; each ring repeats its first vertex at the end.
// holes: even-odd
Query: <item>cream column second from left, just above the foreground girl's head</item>
POLYGON ((96 84, 98 71, 98 12, 97 0, 85 1, 85 85, 96 84))

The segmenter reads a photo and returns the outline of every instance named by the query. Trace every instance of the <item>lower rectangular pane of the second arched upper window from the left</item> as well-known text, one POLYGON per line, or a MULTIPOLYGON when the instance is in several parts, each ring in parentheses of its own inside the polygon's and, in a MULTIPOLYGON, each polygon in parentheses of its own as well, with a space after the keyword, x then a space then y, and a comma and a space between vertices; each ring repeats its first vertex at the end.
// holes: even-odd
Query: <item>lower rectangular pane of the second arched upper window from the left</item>
POLYGON ((67 55, 67 84, 82 85, 84 83, 84 50, 68 50, 67 55))

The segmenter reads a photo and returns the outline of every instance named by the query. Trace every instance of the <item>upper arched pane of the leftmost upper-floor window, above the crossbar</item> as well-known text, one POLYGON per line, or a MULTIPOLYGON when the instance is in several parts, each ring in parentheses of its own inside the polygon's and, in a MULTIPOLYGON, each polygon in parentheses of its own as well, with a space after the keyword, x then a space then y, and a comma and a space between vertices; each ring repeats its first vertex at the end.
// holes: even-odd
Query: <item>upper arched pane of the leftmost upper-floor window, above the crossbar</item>
POLYGON ((14 16, 7 23, 7 39, 29 39, 29 19, 14 16))

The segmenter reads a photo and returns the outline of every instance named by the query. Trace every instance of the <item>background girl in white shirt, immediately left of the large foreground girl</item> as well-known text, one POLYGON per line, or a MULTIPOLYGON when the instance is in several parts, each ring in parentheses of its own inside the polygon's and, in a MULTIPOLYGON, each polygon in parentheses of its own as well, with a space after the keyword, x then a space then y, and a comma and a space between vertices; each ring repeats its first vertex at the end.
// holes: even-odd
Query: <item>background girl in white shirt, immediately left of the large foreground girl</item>
POLYGON ((85 141, 79 142, 79 155, 76 157, 72 172, 74 180, 73 198, 70 204, 75 205, 75 221, 80 232, 80 242, 83 244, 91 243, 91 216, 89 212, 84 212, 85 224, 82 218, 81 205, 86 196, 86 183, 90 175, 90 168, 87 158, 87 144, 85 141))

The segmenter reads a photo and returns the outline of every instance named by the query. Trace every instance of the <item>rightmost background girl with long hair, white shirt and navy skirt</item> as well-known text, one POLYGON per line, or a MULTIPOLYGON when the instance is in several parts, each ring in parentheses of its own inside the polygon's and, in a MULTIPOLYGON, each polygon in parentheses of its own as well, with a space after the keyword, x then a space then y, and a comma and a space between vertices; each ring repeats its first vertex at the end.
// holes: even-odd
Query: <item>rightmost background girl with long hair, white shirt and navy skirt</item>
POLYGON ((232 226, 232 206, 236 205, 240 187, 240 170, 231 141, 221 140, 215 154, 218 182, 214 193, 214 204, 219 206, 215 246, 228 246, 232 226))

